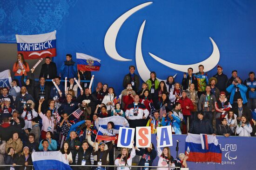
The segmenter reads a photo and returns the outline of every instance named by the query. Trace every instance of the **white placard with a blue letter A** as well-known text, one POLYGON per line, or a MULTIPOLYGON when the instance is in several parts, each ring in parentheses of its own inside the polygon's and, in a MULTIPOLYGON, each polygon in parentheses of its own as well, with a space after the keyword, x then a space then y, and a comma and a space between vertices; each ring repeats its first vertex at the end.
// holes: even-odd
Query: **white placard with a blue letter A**
POLYGON ((156 128, 158 147, 172 146, 172 126, 162 126, 156 128))

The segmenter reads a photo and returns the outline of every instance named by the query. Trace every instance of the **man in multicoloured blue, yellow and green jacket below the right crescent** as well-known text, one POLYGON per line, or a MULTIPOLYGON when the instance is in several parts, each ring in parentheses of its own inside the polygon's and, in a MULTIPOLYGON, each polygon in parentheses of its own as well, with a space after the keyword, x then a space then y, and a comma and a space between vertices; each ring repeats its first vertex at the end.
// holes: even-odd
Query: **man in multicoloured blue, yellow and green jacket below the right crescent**
POLYGON ((198 66, 199 72, 195 74, 195 78, 197 80, 197 89, 198 89, 198 97, 205 92, 206 85, 208 85, 208 75, 207 73, 203 72, 204 66, 198 66))

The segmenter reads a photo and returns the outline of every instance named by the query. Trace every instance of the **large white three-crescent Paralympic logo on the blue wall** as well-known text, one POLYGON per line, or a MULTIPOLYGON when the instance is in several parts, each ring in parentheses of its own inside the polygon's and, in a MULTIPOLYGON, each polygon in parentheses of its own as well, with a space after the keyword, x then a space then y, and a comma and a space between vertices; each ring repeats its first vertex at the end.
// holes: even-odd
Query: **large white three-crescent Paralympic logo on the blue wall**
MULTIPOLYGON (((107 54, 109 55, 109 57, 111 57, 112 59, 118 60, 118 61, 131 61, 132 60, 132 59, 126 59, 126 58, 121 57, 118 54, 118 52, 116 51, 115 41, 116 41, 117 34, 118 34, 119 29, 121 28, 122 24, 133 13, 139 11, 140 9, 142 9, 144 7, 151 5, 152 3, 153 2, 146 2, 146 3, 143 3, 141 5, 138 5, 132 9, 130 9, 126 13, 122 14, 117 20, 115 20, 115 22, 108 28, 108 31, 107 31, 107 33, 105 35, 105 39, 104 39, 104 46, 105 46, 105 50, 106 50, 107 54)), ((140 28, 140 31, 139 31, 139 34, 137 37, 136 52, 135 52, 135 61, 136 61, 137 70, 138 70, 143 81, 147 81, 148 76, 150 74, 150 71, 148 70, 148 67, 145 64, 145 61, 143 59, 142 52, 141 52, 141 41, 142 41, 142 34, 143 34, 145 23, 146 23, 146 20, 144 20, 144 22, 141 25, 141 28, 140 28), (138 64, 139 64, 139 66, 138 66, 138 64)), ((219 49, 218 49, 216 43, 210 37, 209 37, 209 39, 211 40, 211 43, 213 46, 212 54, 209 56, 208 59, 205 59, 202 62, 191 64, 191 65, 174 64, 174 63, 168 62, 166 60, 163 60, 150 52, 148 52, 148 53, 151 57, 153 57, 155 60, 162 63, 163 65, 166 65, 169 68, 172 68, 172 69, 175 69, 175 70, 178 70, 181 72, 187 72, 189 67, 192 67, 196 71, 196 70, 198 70, 198 65, 204 65, 204 67, 205 67, 204 71, 207 72, 207 71, 213 69, 218 64, 218 62, 220 60, 220 52, 219 52, 219 49)), ((159 79, 159 80, 161 81, 161 79, 159 79)))

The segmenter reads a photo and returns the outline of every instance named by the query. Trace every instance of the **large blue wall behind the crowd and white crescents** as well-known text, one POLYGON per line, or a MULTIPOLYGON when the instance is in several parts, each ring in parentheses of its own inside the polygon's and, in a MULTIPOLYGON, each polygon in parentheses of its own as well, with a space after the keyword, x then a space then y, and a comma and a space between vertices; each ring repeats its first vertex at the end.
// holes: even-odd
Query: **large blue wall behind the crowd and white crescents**
MULTIPOLYGON (((152 0, 153 4, 134 13, 122 25, 117 39, 119 54, 132 61, 111 59, 105 52, 104 37, 121 14, 145 0, 1 0, 0 42, 15 43, 15 34, 39 34, 57 30, 57 56, 61 66, 65 54, 86 53, 101 59, 96 81, 121 91, 128 65, 135 65, 135 45, 143 20, 147 20, 142 53, 150 71, 158 78, 183 72, 158 63, 148 52, 176 64, 193 64, 212 52, 209 37, 220 51, 219 64, 230 77, 236 69, 244 80, 255 71, 255 0, 152 0), (106 76, 108 75, 108 76, 106 76), (111 76, 109 76, 111 75, 111 76)), ((12 56, 15 57, 15 56, 12 56)), ((36 61, 35 61, 36 62, 36 61)), ((32 65, 31 65, 32 66, 32 65)), ((212 76, 216 69, 209 72, 212 76)), ((149 77, 149 76, 148 76, 149 77)))

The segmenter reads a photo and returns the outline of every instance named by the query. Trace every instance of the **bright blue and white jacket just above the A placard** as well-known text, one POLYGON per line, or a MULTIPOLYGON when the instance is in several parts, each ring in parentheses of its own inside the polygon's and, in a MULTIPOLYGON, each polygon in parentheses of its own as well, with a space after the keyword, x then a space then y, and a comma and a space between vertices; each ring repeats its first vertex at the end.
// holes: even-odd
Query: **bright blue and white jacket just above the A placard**
POLYGON ((176 115, 175 113, 172 114, 173 119, 171 120, 169 117, 166 118, 162 118, 162 126, 168 126, 168 125, 172 125, 172 128, 174 128, 175 134, 182 134, 181 131, 181 119, 178 115, 176 115))

